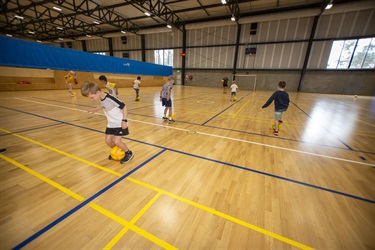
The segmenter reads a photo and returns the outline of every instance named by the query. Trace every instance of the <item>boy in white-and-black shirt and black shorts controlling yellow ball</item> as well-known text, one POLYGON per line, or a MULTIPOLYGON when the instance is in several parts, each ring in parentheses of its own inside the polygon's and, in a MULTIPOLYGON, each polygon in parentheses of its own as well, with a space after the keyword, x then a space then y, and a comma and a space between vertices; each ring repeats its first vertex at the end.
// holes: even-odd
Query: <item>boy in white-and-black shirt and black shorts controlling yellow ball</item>
MULTIPOLYGON (((94 82, 85 82, 81 86, 81 94, 93 101, 100 102, 101 107, 89 110, 90 113, 95 113, 103 109, 107 117, 107 128, 105 130, 105 142, 110 148, 117 146, 124 150, 125 156, 120 160, 121 164, 127 163, 133 158, 132 151, 121 141, 121 137, 129 134, 128 108, 125 103, 113 97, 110 94, 101 91, 99 85, 94 82)), ((112 160, 112 156, 108 156, 112 160)))

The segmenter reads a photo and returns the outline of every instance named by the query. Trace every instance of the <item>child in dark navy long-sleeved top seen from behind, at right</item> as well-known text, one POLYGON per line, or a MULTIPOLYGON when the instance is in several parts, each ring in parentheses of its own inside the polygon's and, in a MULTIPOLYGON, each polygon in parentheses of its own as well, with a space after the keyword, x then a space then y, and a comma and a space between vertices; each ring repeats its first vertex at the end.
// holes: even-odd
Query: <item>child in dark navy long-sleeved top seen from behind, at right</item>
POLYGON ((274 135, 279 135, 279 124, 283 123, 281 120, 283 113, 288 109, 289 106, 289 95, 285 91, 286 82, 280 81, 278 84, 278 90, 275 91, 268 99, 266 104, 262 108, 267 108, 273 101, 275 101, 275 128, 273 131, 274 135))

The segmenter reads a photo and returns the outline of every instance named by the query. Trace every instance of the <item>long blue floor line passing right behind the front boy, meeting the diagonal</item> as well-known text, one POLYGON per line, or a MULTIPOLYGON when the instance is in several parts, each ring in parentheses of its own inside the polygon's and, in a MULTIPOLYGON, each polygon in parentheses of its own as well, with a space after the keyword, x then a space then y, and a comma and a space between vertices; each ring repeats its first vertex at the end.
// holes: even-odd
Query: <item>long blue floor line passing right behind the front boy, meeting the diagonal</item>
MULTIPOLYGON (((32 115, 32 116, 37 116, 37 117, 44 118, 44 119, 55 120, 53 118, 44 117, 44 116, 41 116, 41 115, 36 115, 36 114, 33 114, 33 113, 28 113, 28 112, 25 112, 25 111, 21 111, 21 110, 16 110, 16 109, 12 109, 12 108, 6 108, 6 109, 14 110, 14 111, 17 111, 17 112, 20 112, 20 113, 25 113, 25 114, 32 115)), ((84 127, 84 126, 80 126, 80 125, 68 123, 68 122, 63 122, 63 123, 67 124, 67 125, 70 125, 70 126, 73 126, 73 127, 79 127, 79 128, 82 128, 82 129, 86 129, 86 130, 90 130, 90 131, 95 131, 95 132, 99 132, 99 133, 103 133, 104 134, 104 132, 100 131, 100 130, 91 129, 91 128, 87 128, 87 127, 84 127)), ((199 155, 194 155, 194 154, 186 153, 186 152, 183 152, 183 151, 179 151, 179 150, 176 150, 176 149, 159 146, 159 145, 156 145, 156 144, 152 144, 152 143, 140 141, 140 140, 137 140, 137 139, 131 139, 131 138, 127 138, 127 137, 124 137, 124 139, 129 140, 129 141, 133 141, 133 142, 137 142, 137 143, 141 143, 141 144, 144 144, 144 145, 152 146, 152 147, 157 147, 157 148, 160 148, 160 149, 166 149, 166 150, 169 150, 169 151, 172 151, 172 152, 176 152, 176 153, 181 153, 181 154, 184 154, 184 155, 189 155, 189 156, 192 156, 192 157, 195 157, 195 158, 199 158, 199 159, 204 159, 204 160, 208 160, 208 161, 211 161, 211 162, 216 162, 216 163, 224 164, 224 165, 227 165, 227 166, 230 166, 230 167, 235 167, 235 168, 242 169, 242 170, 245 170, 245 171, 258 173, 258 174, 261 174, 261 175, 266 175, 266 176, 269 176, 269 177, 272 177, 272 178, 281 179, 281 180, 284 180, 284 181, 288 181, 288 182, 300 184, 300 185, 303 185, 303 186, 308 186, 308 187, 316 188, 316 189, 319 189, 319 190, 323 190, 323 191, 327 191, 327 192, 330 192, 330 193, 342 195, 342 196, 353 198, 353 199, 356 199, 356 200, 361 200, 361 201, 365 201, 365 202, 375 203, 374 200, 362 198, 362 197, 359 197, 359 196, 347 194, 347 193, 336 191, 336 190, 329 189, 329 188, 324 188, 324 187, 316 186, 316 185, 309 184, 309 183, 302 182, 302 181, 297 181, 297 180, 289 179, 289 178, 286 178, 286 177, 282 177, 282 176, 270 174, 270 173, 267 173, 267 172, 262 172, 262 171, 255 170, 255 169, 245 168, 245 167, 242 167, 242 166, 239 166, 239 165, 235 165, 235 164, 232 164, 232 163, 227 163, 227 162, 223 162, 223 161, 219 161, 219 160, 215 160, 215 159, 211 159, 211 158, 207 158, 207 157, 203 157, 203 156, 199 156, 199 155)), ((371 168, 375 169, 375 166, 372 166, 371 168)))

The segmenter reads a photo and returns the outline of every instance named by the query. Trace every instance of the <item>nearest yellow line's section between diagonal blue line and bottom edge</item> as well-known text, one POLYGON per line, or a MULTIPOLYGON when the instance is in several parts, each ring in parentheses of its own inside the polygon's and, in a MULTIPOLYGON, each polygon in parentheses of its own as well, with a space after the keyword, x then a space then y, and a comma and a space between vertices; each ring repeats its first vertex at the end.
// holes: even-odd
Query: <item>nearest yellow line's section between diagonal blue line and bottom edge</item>
MULTIPOLYGON (((178 249, 178 248, 168 244, 167 242, 157 238, 156 236, 146 232, 145 230, 141 229, 140 227, 137 227, 136 225, 131 224, 130 222, 128 222, 128 221, 124 220, 123 218, 109 212, 108 210, 103 209, 102 207, 100 207, 96 204, 91 203, 90 207, 92 207, 96 211, 106 215, 107 217, 111 218, 112 220, 120 223, 124 227, 128 227, 130 230, 134 231, 135 233, 137 233, 139 235, 142 235, 146 239, 154 242, 155 244, 157 244, 157 245, 159 245, 159 246, 161 246, 165 249, 178 249)), ((123 229, 123 231, 124 231, 124 229, 123 229)))

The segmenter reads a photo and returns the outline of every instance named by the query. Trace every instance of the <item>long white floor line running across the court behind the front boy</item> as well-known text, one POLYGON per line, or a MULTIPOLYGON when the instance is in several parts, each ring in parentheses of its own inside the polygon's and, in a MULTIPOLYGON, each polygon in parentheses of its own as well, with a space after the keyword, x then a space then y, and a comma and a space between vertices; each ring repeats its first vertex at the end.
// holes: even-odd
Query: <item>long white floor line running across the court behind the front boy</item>
MULTIPOLYGON (((69 107, 65 107, 65 106, 54 105, 54 104, 49 104, 49 103, 44 103, 44 102, 31 101, 31 100, 26 100, 26 99, 16 98, 16 97, 14 99, 21 100, 21 101, 26 101, 26 102, 38 103, 38 104, 42 104, 42 105, 46 105, 46 106, 52 106, 52 107, 57 107, 57 108, 63 108, 63 109, 69 109, 69 110, 75 110, 75 111, 80 111, 80 112, 88 113, 87 110, 83 110, 83 109, 69 108, 69 107)), ((90 113, 90 114, 92 114, 92 113, 90 113)), ((101 114, 101 113, 94 113, 94 115, 105 116, 104 114, 101 114)), ((188 129, 176 128, 176 127, 171 127, 171 126, 165 126, 165 125, 160 125, 160 124, 151 123, 151 122, 145 122, 145 121, 140 121, 140 120, 134 120, 134 119, 129 119, 129 118, 128 118, 128 120, 134 121, 134 122, 143 123, 143 124, 147 124, 147 125, 151 125, 151 126, 158 126, 158 127, 163 127, 163 128, 167 128, 167 129, 174 129, 174 130, 179 130, 179 131, 184 131, 184 132, 191 131, 191 130, 188 130, 188 129)), ((295 152, 295 153, 299 153, 299 154, 312 155, 312 156, 317 156, 317 157, 322 157, 322 158, 327 158, 327 159, 332 159, 332 160, 337 160, 337 161, 350 162, 350 163, 355 163, 355 164, 360 164, 360 165, 365 165, 365 166, 370 166, 370 167, 374 166, 374 164, 370 164, 370 163, 364 163, 364 162, 360 162, 360 161, 348 160, 348 159, 333 157, 333 156, 329 156, 329 155, 316 154, 316 153, 311 153, 311 152, 301 151, 301 150, 296 150, 296 149, 291 149, 291 148, 283 148, 283 147, 274 146, 274 145, 270 145, 270 144, 264 144, 264 143, 259 143, 259 142, 247 141, 247 140, 242 140, 242 139, 237 139, 237 138, 232 138, 232 137, 227 137, 227 136, 221 136, 221 135, 214 135, 214 134, 209 134, 209 133, 205 133, 205 132, 199 132, 199 131, 197 131, 196 134, 201 134, 201 135, 206 135, 206 136, 212 136, 212 137, 222 138, 222 139, 226 139, 226 140, 244 142, 244 143, 258 145, 258 146, 263 146, 263 147, 275 148, 275 149, 280 149, 280 150, 295 152)))

